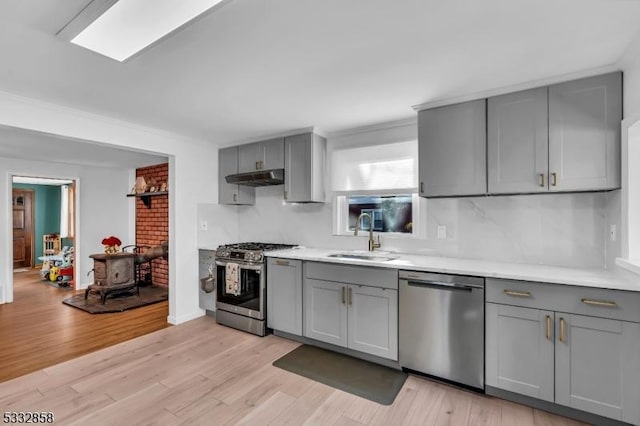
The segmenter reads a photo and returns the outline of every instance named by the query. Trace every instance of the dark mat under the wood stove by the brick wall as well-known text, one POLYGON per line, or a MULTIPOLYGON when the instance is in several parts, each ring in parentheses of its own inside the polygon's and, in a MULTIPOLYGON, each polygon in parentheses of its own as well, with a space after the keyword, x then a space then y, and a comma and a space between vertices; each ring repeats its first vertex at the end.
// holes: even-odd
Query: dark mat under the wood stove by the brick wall
POLYGON ((140 308, 162 302, 168 298, 169 293, 166 287, 140 287, 140 297, 135 293, 109 295, 104 305, 100 303, 100 295, 95 293, 89 293, 87 300, 84 299, 84 293, 76 294, 64 299, 62 303, 82 309, 90 314, 107 314, 140 308))

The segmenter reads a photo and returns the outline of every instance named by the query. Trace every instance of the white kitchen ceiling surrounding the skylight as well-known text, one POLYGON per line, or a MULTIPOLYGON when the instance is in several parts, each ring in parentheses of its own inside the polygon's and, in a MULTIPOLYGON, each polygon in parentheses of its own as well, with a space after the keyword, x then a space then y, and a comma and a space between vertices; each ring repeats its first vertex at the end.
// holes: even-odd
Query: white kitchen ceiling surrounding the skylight
POLYGON ((55 37, 88 0, 0 2, 0 90, 218 144, 615 64, 638 0, 231 0, 119 63, 55 37))

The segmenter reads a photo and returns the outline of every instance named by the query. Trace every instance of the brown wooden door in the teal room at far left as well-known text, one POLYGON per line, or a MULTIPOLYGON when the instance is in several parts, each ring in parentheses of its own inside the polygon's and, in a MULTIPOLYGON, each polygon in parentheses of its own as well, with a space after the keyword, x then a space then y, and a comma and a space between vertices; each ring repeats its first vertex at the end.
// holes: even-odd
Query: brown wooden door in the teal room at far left
POLYGON ((14 189, 13 205, 13 267, 33 266, 33 191, 14 189))

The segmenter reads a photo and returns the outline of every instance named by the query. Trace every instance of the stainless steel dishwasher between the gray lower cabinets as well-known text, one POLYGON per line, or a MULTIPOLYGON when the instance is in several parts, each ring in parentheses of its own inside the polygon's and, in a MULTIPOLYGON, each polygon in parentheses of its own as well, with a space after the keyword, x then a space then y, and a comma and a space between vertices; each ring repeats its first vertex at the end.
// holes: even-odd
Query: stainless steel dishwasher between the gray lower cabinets
POLYGON ((400 365, 484 392, 484 278, 398 277, 400 365))

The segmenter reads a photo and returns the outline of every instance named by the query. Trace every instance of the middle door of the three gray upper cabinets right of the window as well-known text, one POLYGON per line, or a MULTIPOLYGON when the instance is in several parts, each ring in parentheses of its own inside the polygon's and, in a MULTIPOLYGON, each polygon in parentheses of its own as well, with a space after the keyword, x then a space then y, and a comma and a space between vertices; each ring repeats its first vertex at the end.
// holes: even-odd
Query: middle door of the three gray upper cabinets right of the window
POLYGON ((488 99, 489 193, 547 191, 547 123, 546 87, 488 99))

